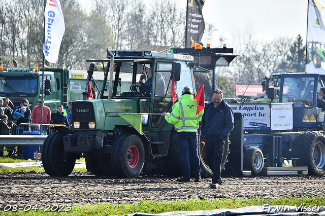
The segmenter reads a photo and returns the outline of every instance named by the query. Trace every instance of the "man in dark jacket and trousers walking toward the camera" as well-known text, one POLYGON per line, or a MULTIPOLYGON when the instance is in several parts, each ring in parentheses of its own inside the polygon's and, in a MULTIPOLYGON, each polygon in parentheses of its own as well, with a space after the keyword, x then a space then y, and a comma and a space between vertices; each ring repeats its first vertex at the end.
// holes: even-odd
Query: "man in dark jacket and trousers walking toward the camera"
POLYGON ((222 99, 222 91, 214 90, 212 102, 206 105, 204 109, 201 125, 207 163, 213 172, 210 188, 217 188, 217 184, 222 183, 220 175, 223 147, 233 128, 233 109, 222 99))

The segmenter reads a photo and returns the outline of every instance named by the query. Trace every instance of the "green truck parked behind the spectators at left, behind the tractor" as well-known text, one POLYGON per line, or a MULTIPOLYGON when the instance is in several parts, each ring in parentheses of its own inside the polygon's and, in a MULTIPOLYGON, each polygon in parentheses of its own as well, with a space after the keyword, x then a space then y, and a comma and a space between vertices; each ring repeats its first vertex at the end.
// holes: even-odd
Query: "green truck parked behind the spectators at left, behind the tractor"
MULTIPOLYGON (((58 105, 66 106, 71 100, 83 99, 87 71, 69 70, 67 68, 44 69, 44 100, 52 113, 56 112, 58 105)), ((94 83, 102 86, 103 71, 95 71, 92 75, 91 86, 94 83)), ((8 67, 0 69, 0 96, 9 98, 14 106, 18 106, 23 98, 29 101, 29 107, 38 104, 42 95, 42 71, 37 67, 8 67)), ((98 90, 97 90, 98 91, 98 90)))

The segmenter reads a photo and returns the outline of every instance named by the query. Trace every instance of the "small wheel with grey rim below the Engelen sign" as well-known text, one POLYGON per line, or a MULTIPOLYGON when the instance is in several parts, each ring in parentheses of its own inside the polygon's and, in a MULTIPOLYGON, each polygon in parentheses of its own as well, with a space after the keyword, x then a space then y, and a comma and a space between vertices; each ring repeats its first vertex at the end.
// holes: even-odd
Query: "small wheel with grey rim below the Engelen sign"
POLYGON ((261 149, 257 147, 250 147, 247 149, 244 155, 244 167, 245 169, 253 171, 258 174, 264 167, 264 158, 261 149))

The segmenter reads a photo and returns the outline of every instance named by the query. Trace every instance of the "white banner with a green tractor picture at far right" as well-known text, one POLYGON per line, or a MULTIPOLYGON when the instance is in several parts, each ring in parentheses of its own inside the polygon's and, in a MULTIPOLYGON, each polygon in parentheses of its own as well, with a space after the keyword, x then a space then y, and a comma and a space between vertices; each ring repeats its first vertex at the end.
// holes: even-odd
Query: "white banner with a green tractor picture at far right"
MULTIPOLYGON (((324 0, 321 0, 324 1, 324 0)), ((325 73, 325 7, 320 0, 308 0, 307 55, 305 72, 325 73)))

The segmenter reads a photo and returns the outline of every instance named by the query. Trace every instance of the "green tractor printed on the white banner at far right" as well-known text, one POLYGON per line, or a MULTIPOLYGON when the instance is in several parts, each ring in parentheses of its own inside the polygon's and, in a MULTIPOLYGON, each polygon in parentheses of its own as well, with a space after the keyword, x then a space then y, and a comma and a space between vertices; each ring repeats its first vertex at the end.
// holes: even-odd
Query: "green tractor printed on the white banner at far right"
POLYGON ((321 62, 325 62, 325 49, 324 44, 315 41, 309 41, 307 43, 307 60, 309 62, 313 61, 314 66, 319 68, 321 62), (321 49, 323 47, 323 49, 321 49))

